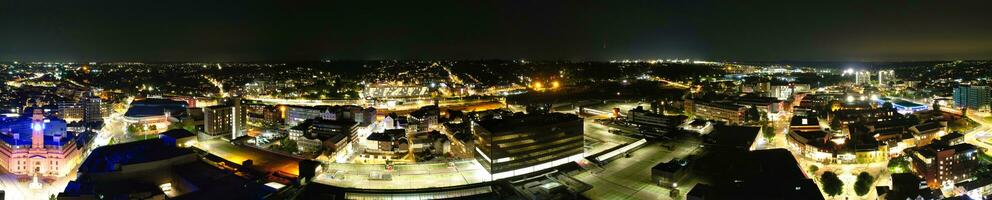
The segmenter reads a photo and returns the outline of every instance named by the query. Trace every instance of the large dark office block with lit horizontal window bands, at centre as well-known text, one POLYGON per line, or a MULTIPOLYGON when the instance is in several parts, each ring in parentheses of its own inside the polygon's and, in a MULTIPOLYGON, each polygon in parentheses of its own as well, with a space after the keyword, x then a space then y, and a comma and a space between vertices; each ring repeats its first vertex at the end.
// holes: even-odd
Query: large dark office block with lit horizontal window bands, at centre
POLYGON ((582 118, 520 114, 472 122, 476 159, 492 179, 537 172, 582 159, 582 118))

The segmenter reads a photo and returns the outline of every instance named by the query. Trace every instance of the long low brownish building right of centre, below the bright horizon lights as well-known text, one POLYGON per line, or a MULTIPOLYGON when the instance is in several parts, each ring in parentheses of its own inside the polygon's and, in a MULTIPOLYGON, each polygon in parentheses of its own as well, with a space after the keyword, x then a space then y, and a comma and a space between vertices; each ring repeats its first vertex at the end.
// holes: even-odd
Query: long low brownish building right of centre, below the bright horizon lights
POLYGON ((747 112, 745 106, 700 100, 685 100, 685 109, 697 117, 725 121, 730 124, 744 123, 744 112, 747 112))

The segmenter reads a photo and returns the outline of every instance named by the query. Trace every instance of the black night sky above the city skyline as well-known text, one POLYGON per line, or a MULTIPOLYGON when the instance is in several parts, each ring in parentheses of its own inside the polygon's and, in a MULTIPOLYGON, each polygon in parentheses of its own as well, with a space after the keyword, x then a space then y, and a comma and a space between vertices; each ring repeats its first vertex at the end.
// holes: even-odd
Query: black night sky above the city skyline
POLYGON ((0 60, 992 59, 992 1, 938 2, 4 0, 0 60))

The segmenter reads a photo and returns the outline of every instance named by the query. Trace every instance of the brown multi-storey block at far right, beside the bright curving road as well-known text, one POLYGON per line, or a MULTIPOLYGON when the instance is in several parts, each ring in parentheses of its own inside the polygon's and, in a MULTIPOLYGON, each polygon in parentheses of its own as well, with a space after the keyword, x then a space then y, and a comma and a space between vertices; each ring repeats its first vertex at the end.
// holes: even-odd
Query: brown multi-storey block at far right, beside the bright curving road
POLYGON ((947 145, 934 142, 913 151, 913 170, 930 188, 937 189, 972 179, 972 171, 978 166, 978 148, 964 143, 947 145))

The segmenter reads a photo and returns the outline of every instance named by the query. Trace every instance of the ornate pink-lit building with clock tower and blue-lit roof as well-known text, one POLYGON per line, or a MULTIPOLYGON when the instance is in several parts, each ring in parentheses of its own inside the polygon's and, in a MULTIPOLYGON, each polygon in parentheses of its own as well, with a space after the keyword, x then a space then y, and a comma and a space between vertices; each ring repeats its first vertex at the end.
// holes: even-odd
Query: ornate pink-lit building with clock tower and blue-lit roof
POLYGON ((45 117, 41 109, 0 124, 0 132, 0 165, 18 175, 65 176, 90 141, 88 133, 67 132, 65 121, 45 117))

